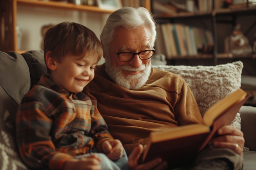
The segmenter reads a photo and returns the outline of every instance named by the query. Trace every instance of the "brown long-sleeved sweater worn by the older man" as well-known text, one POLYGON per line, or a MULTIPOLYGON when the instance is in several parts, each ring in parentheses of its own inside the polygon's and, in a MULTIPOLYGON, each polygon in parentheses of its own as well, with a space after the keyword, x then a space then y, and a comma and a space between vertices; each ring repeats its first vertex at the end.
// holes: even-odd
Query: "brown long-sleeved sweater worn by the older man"
POLYGON ((96 97, 111 135, 128 155, 138 143, 146 144, 151 131, 202 122, 189 86, 171 72, 152 68, 146 84, 128 90, 112 82, 103 64, 84 92, 96 97))

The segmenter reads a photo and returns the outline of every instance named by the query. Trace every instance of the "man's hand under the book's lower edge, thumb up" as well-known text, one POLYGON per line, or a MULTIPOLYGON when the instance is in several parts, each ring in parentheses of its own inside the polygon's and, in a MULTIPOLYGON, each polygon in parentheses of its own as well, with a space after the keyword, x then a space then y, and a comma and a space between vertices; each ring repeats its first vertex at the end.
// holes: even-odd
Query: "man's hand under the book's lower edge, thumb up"
POLYGON ((139 145, 132 150, 128 158, 130 170, 165 170, 168 166, 167 162, 162 162, 162 159, 157 158, 150 162, 139 164, 138 160, 143 152, 143 146, 139 145))

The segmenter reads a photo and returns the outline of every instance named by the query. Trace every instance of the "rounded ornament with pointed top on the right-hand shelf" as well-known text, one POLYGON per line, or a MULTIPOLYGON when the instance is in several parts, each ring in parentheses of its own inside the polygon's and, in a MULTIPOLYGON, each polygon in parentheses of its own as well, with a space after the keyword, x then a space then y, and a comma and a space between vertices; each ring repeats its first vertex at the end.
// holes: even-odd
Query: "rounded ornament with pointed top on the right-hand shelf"
POLYGON ((243 35, 240 24, 236 24, 230 36, 225 38, 225 53, 252 53, 248 39, 243 35))

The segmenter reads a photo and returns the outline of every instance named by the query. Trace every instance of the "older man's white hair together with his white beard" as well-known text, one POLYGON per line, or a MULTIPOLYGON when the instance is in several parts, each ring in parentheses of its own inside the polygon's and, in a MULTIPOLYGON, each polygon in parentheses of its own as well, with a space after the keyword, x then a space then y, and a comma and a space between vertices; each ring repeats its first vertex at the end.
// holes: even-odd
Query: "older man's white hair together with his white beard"
POLYGON ((113 32, 119 26, 123 26, 126 29, 132 30, 136 29, 139 26, 146 26, 150 29, 151 32, 151 46, 154 47, 155 40, 157 36, 156 25, 153 15, 144 7, 132 8, 132 7, 123 7, 118 9, 109 15, 106 24, 101 32, 100 39, 101 44, 103 44, 103 51, 106 55, 105 65, 106 72, 110 78, 120 86, 128 89, 136 89, 143 86, 148 80, 151 71, 151 62, 148 62, 147 65, 142 64, 140 68, 133 68, 132 66, 111 66, 111 60, 108 56, 108 46, 105 47, 105 44, 109 45, 112 38, 113 32), (122 70, 126 71, 142 71, 137 75, 128 75, 124 76, 122 70))

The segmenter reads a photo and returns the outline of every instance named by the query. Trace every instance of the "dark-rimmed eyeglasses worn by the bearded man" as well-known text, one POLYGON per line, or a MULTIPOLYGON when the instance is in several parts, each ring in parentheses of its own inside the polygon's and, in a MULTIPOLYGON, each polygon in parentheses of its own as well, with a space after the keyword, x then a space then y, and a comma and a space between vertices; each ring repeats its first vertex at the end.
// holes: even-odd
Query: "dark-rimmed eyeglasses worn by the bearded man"
MULTIPOLYGON (((106 44, 107 45, 107 44, 106 44)), ((108 46, 108 45, 107 45, 108 46)), ((110 46, 108 46, 112 51, 115 52, 110 46)), ((140 51, 139 53, 132 53, 132 52, 115 52, 118 55, 118 59, 121 62, 128 62, 133 59, 133 57, 137 54, 141 60, 148 60, 153 57, 155 53, 155 49, 153 50, 144 50, 140 51)))

